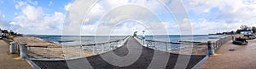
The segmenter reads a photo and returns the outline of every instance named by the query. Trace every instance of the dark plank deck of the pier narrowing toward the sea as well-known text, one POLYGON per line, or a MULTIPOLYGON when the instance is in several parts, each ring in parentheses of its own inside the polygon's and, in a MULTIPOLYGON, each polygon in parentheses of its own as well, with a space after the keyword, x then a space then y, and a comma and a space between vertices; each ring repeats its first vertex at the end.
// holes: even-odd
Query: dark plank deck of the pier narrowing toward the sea
MULTIPOLYGON (((44 61, 44 60, 32 60, 37 66, 42 69, 84 69, 84 68, 95 68, 95 69, 146 69, 148 66, 153 67, 154 69, 158 69, 157 66, 162 66, 164 64, 154 63, 156 60, 163 61, 166 56, 169 56, 166 61, 166 69, 172 69, 176 66, 178 56, 189 56, 189 55, 178 55, 172 54, 168 52, 163 52, 159 50, 150 49, 148 47, 144 47, 134 38, 129 38, 124 45, 121 47, 108 51, 106 53, 102 53, 96 56, 88 56, 84 58, 78 58, 73 60, 59 60, 59 61, 44 61), (113 53, 120 57, 133 57, 138 56, 137 60, 131 65, 128 66, 115 66, 108 61, 105 61, 102 56, 112 56, 113 53), (155 53, 158 53, 156 58, 154 58, 155 53), (85 61, 89 63, 86 64, 85 61)), ((114 56, 113 56, 114 57, 114 56)), ((192 68, 206 56, 190 56, 189 63, 185 68, 192 68)), ((106 58, 105 58, 106 59, 106 58)), ((112 58, 110 61, 116 61, 118 58, 112 58)), ((134 59, 132 59, 134 60, 134 59)), ((120 63, 125 63, 130 60, 121 60, 120 63)))

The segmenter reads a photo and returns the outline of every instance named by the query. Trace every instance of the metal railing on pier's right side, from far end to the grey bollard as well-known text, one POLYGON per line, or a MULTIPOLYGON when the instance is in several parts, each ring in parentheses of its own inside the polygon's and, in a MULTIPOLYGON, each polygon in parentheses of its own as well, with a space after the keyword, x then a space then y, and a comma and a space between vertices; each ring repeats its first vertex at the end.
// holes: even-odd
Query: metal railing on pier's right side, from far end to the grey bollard
POLYGON ((204 42, 166 42, 159 40, 143 40, 138 37, 136 37, 136 40, 142 45, 144 43, 144 46, 154 50, 177 54, 207 55, 207 43, 204 42))

